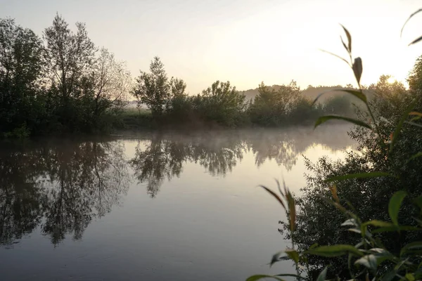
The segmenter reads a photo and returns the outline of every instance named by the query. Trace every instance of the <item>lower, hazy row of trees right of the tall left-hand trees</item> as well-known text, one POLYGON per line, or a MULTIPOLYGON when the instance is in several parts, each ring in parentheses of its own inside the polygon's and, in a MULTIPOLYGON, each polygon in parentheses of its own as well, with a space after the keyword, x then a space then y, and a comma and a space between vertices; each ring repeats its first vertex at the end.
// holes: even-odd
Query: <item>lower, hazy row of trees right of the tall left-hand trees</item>
POLYGON ((283 126, 310 124, 323 114, 353 115, 354 105, 347 95, 329 98, 325 103, 312 105, 311 99, 302 96, 302 90, 295 81, 288 85, 274 87, 263 82, 258 94, 246 100, 229 81, 215 81, 209 88, 190 96, 186 93, 183 80, 168 79, 160 58, 155 57, 150 72, 142 72, 136 79, 133 95, 139 110, 146 105, 151 115, 126 117, 126 124, 193 124, 237 126, 283 126), (134 118, 133 118, 134 117, 134 118), (138 119, 138 120, 136 120, 138 119))

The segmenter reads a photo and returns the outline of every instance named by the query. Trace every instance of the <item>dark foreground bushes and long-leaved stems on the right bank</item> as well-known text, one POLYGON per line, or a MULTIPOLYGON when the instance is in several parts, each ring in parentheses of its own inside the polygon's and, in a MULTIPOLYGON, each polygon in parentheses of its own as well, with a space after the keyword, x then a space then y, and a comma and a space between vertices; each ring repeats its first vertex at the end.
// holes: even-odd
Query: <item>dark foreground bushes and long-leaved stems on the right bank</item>
MULTIPOLYGON (((282 233, 297 247, 294 254, 292 249, 284 251, 286 256, 276 254, 271 264, 293 260, 298 279, 418 280, 422 277, 422 144, 417 128, 422 116, 421 60, 409 77, 409 91, 382 76, 369 86, 374 95, 369 99, 360 85, 362 60, 352 59, 352 37, 343 29, 350 62, 341 59, 350 65, 359 86, 359 91, 345 91, 359 98, 366 110, 359 108, 357 119, 319 117, 315 126, 329 119, 357 125, 350 136, 359 149, 348 152, 343 162, 322 158, 312 164, 307 160, 312 174, 307 176, 302 197, 295 198, 295 214, 278 199, 290 218, 282 233)), ((286 197, 286 191, 280 192, 286 197)), ((280 280, 282 276, 271 277, 280 280)), ((248 280, 260 279, 255 275, 248 280)))

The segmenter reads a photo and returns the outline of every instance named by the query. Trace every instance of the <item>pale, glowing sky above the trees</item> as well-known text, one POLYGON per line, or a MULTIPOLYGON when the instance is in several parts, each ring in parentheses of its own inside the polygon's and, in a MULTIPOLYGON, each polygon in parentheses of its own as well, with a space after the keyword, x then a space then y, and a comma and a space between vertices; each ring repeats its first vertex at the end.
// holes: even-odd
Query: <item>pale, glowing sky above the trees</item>
POLYGON ((405 81, 422 43, 422 13, 400 30, 422 1, 411 0, 0 0, 0 18, 15 18, 41 35, 56 13, 70 27, 85 22, 94 43, 127 62, 133 77, 158 55, 169 77, 196 94, 216 80, 238 90, 288 84, 355 84, 339 24, 361 57, 362 84, 381 74, 405 81))

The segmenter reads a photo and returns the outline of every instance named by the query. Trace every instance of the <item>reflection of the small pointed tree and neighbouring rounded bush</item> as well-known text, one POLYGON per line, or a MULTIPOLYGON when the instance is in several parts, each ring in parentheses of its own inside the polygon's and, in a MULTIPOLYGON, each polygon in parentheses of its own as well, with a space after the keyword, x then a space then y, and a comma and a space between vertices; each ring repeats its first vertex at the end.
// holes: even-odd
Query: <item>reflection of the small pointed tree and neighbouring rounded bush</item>
POLYGON ((224 176, 243 157, 245 145, 241 138, 198 134, 196 136, 155 134, 144 145, 139 141, 134 157, 129 161, 139 183, 146 183, 155 197, 165 178, 179 177, 186 162, 205 167, 212 176, 224 176))

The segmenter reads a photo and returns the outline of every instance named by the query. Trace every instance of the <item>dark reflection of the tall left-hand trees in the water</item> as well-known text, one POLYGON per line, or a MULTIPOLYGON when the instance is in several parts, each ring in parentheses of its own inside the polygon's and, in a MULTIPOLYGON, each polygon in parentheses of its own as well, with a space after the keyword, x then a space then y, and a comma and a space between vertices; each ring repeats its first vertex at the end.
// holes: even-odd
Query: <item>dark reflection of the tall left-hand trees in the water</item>
POLYGON ((0 159, 0 243, 39 227, 53 244, 75 240, 127 192, 122 143, 51 141, 4 145, 0 159))

